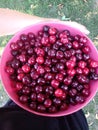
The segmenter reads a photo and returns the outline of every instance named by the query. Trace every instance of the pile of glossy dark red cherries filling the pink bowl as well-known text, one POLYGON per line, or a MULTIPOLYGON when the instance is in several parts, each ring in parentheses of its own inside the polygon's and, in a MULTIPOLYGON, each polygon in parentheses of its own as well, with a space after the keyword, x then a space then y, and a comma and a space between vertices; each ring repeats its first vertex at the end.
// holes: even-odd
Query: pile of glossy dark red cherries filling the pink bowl
POLYGON ((19 101, 38 112, 54 113, 85 102, 90 80, 98 80, 98 62, 90 57, 84 36, 43 26, 10 43, 5 71, 19 101))

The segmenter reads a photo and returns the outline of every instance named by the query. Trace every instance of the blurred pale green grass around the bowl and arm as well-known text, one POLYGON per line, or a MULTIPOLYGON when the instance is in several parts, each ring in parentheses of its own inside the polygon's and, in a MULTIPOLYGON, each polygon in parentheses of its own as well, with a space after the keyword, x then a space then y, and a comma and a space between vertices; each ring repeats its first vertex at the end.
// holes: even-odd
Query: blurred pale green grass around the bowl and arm
MULTIPOLYGON (((87 27, 89 37, 98 48, 98 0, 0 0, 0 8, 63 21, 76 21, 87 27)), ((11 37, 0 37, 0 56, 11 37)), ((0 107, 8 99, 0 82, 0 107)), ((90 130, 98 130, 98 93, 83 110, 90 130)))

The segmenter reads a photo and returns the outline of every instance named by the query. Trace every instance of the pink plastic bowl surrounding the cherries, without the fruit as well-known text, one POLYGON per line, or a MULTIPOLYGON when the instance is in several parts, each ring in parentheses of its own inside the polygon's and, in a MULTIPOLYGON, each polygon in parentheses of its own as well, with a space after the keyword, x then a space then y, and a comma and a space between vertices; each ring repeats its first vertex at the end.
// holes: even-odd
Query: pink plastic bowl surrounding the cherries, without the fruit
MULTIPOLYGON (((68 25, 63 24, 62 22, 41 22, 29 27, 26 27, 25 29, 21 30, 20 32, 18 32, 15 36, 13 36, 13 38, 8 42, 8 44, 6 45, 4 52, 2 54, 1 57, 1 80, 4 86, 4 89, 6 90, 7 94, 9 95, 9 97, 20 107, 22 107, 23 109, 37 114, 37 115, 42 115, 42 116, 49 116, 49 117, 57 117, 57 116, 64 116, 64 115, 68 115, 71 113, 74 113, 80 109, 82 109, 84 106, 86 106, 91 100, 92 98, 95 96, 97 90, 98 90, 98 81, 91 81, 90 82, 90 89, 91 89, 91 94, 89 95, 89 97, 86 99, 86 101, 82 104, 78 104, 75 106, 69 106, 68 110, 65 111, 59 111, 53 114, 49 114, 49 113, 40 113, 40 112, 35 112, 33 110, 30 110, 27 106, 25 106, 24 104, 21 104, 18 101, 18 96, 15 93, 15 89, 13 87, 13 83, 10 81, 8 74, 5 72, 5 65, 6 65, 6 61, 9 60, 9 58, 11 58, 11 54, 10 54, 10 43, 12 41, 17 41, 17 39, 19 38, 20 34, 25 33, 27 34, 28 32, 33 32, 36 34, 36 32, 41 29, 43 27, 43 25, 49 25, 49 26, 53 26, 56 27, 59 30, 64 30, 64 29, 68 29, 72 35, 76 35, 79 34, 81 36, 85 36, 88 39, 88 44, 91 48, 91 53, 90 56, 94 59, 98 61, 98 51, 95 48, 93 42, 85 35, 83 34, 80 30, 77 30, 73 27, 70 27, 68 25)), ((98 70, 97 70, 98 73, 98 70)))

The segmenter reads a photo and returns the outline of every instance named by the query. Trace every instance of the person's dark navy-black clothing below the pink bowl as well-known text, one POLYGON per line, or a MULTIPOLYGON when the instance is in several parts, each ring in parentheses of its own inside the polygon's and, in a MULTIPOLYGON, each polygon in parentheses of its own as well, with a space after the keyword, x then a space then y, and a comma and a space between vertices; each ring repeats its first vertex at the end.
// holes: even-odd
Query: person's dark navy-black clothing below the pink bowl
POLYGON ((14 130, 26 130, 27 128, 29 128, 28 130, 88 130, 88 124, 82 110, 68 116, 42 117, 21 109, 10 100, 0 110, 0 113, 2 113, 0 114, 0 130, 4 130, 2 128, 6 127, 8 120, 11 127, 7 130, 12 130, 14 126, 16 126, 14 130), (21 121, 24 122, 24 125, 21 121))

